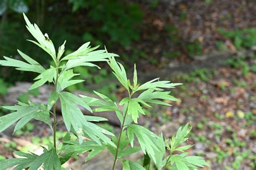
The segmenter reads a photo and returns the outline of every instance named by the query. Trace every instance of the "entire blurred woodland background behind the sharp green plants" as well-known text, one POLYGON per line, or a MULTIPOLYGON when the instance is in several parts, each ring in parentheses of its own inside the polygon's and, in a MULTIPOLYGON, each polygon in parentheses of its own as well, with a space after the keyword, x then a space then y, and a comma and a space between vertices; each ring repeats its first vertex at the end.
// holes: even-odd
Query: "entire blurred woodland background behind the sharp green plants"
MULTIPOLYGON (((84 42, 106 46, 120 55, 128 72, 137 64, 140 82, 162 77, 184 83, 172 90, 180 103, 172 107, 144 108, 148 113, 140 123, 154 132, 172 136, 179 125, 192 122, 187 143, 195 144, 191 154, 204 157, 212 169, 253 169, 256 121, 256 1, 254 0, 0 0, 0 56, 19 58, 17 49, 48 66, 49 56, 26 41, 33 39, 25 28, 22 12, 48 33, 55 47, 67 40, 65 53, 84 42)), ((114 79, 106 63, 102 69, 78 67, 85 82, 68 88, 75 94, 99 91, 119 101, 124 89, 114 79), (104 84, 104 86, 102 86, 104 84)), ((45 102, 47 86, 28 91, 35 78, 1 67, 0 104, 29 99, 45 102)), ((162 79, 162 80, 163 80, 162 79)), ((48 97, 48 96, 46 96, 48 97)), ((0 109, 0 115, 7 114, 0 109)), ((104 115, 104 114, 102 114, 104 115)), ((102 116, 101 115, 101 116, 102 116)), ((118 132, 115 117, 100 124, 118 132)), ((0 133, 0 159, 12 158, 14 150, 35 152, 47 145, 47 126, 30 122, 12 136, 0 133), (38 136, 39 135, 39 136, 38 136)), ((61 125, 60 125, 61 126, 61 125)), ((59 128, 62 139, 65 128, 59 128)), ((81 157, 66 167, 85 169, 81 157)), ((92 169, 100 169, 95 158, 92 169)), ((110 162, 111 164, 111 162, 110 162)))

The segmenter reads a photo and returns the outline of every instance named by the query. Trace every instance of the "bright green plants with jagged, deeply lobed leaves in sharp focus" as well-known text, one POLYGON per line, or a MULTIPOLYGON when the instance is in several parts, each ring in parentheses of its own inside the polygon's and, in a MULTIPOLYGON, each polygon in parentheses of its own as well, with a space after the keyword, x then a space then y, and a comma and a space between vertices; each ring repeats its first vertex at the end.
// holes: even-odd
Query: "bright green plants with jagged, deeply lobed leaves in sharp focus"
MULTIPOLYGON (((47 105, 29 101, 28 104, 18 102, 17 105, 3 107, 14 112, 0 117, 0 132, 17 122, 14 129, 15 132, 31 121, 31 119, 36 119, 49 125, 53 134, 51 139, 53 142, 51 143, 51 141, 49 141, 48 147, 43 147, 44 151, 41 155, 15 151, 15 154, 22 158, 1 160, 1 169, 12 166, 16 166, 15 169, 63 169, 62 164, 71 157, 89 152, 86 157, 86 161, 89 161, 105 149, 113 154, 114 161, 112 169, 114 169, 118 160, 123 162, 123 169, 145 169, 145 167, 149 169, 151 161, 157 169, 163 169, 169 165, 177 169, 208 166, 207 162, 201 157, 187 156, 188 153, 185 152, 185 150, 192 145, 181 146, 181 144, 188 139, 187 135, 191 131, 190 124, 186 124, 184 128, 180 127, 177 134, 170 139, 164 139, 163 134, 157 136, 157 134, 137 124, 140 114, 145 114, 142 109, 143 105, 147 107, 150 107, 149 103, 170 105, 161 100, 178 101, 177 98, 170 95, 170 91, 164 91, 164 88, 174 88, 180 85, 180 83, 154 79, 140 84, 137 81, 135 65, 133 83, 131 83, 126 77, 123 65, 116 62, 114 59, 114 56, 118 55, 108 53, 106 49, 95 51, 97 47, 91 48, 89 42, 82 45, 77 51, 62 56, 65 48, 64 41, 63 45, 58 48, 56 55, 55 47, 49 39, 48 34, 43 35, 36 24, 32 25, 25 15, 24 18, 27 29, 37 40, 37 42, 29 41, 35 43, 47 52, 53 60, 53 65, 45 69, 37 61, 21 51, 18 52, 26 62, 4 56, 5 60, 0 60, 0 65, 39 73, 35 79, 36 81, 30 87, 30 90, 36 89, 46 82, 53 83, 55 88, 49 96, 47 105), (72 77, 77 75, 73 73, 72 69, 79 66, 98 67, 91 63, 94 61, 107 61, 113 70, 113 74, 127 90, 129 96, 123 98, 119 104, 96 91, 95 94, 98 95, 100 99, 83 95, 78 97, 64 91, 65 88, 72 84, 83 82, 83 80, 72 79, 72 77), (135 93, 138 97, 132 97, 135 93), (64 137, 63 132, 57 132, 57 125, 62 122, 57 120, 56 102, 58 100, 60 100, 62 108, 63 122, 68 130, 68 133, 66 133, 64 137), (93 109, 94 111, 116 112, 121 123, 119 136, 116 137, 110 131, 93 123, 107 121, 107 119, 96 116, 85 116, 77 104, 91 112, 92 109, 90 107, 95 107, 95 109, 93 109), (124 105, 124 109, 120 110, 118 105, 124 105), (53 117, 53 122, 50 121, 50 115, 53 117), (72 136, 76 136, 76 138, 73 139, 71 138, 72 136), (112 136, 112 140, 107 136, 112 136), (139 146, 134 146, 134 136, 136 136, 139 146), (83 137, 86 137, 86 139, 83 137), (62 138, 62 141, 60 141, 58 145, 58 139, 60 138, 62 138), (166 154, 166 148, 169 154, 166 154), (143 165, 125 159, 126 155, 136 153, 140 150, 142 150, 145 155, 143 165), (173 154, 174 151, 176 154, 173 154), (178 154, 178 152, 184 153, 178 154)), ((37 138, 33 140, 34 143, 39 142, 37 138)), ((45 140, 45 138, 42 138, 42 140, 45 140)))

